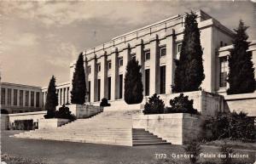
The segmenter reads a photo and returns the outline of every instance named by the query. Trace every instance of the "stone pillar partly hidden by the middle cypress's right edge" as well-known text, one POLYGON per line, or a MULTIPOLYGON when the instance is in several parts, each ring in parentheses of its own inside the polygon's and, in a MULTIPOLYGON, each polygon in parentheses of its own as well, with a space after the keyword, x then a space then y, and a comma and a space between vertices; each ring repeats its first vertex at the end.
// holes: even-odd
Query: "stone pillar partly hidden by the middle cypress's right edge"
POLYGON ((143 74, 143 95, 145 95, 145 65, 143 58, 143 39, 138 40, 136 43, 136 59, 138 60, 139 65, 142 65, 141 72, 143 74))

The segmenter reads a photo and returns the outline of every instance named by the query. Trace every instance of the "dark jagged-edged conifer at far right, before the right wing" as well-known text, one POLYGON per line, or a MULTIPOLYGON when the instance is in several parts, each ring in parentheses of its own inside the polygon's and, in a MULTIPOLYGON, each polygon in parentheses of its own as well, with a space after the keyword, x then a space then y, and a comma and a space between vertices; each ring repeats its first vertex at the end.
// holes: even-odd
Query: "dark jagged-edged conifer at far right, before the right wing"
POLYGON ((253 93, 255 90, 252 52, 247 52, 247 26, 240 20, 233 41, 234 48, 230 52, 230 73, 227 82, 230 83, 228 94, 253 93))

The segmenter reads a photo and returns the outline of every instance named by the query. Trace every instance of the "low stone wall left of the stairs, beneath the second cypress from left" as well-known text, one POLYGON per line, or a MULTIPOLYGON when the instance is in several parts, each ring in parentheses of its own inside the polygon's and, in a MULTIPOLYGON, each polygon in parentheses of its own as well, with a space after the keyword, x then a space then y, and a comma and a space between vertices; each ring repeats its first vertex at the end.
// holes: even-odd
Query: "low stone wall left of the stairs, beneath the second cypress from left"
POLYGON ((67 105, 67 107, 77 118, 88 118, 103 111, 102 107, 92 105, 67 105))

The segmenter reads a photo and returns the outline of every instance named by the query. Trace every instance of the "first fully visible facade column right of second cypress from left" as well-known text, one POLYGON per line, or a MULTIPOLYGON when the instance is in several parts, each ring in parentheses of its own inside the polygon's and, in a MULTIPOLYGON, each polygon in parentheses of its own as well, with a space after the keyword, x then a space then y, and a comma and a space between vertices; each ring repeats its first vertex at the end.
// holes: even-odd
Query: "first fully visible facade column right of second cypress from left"
POLYGON ((90 80, 90 101, 95 102, 96 101, 96 93, 97 93, 97 86, 96 86, 96 57, 92 59, 91 61, 91 80, 90 80))

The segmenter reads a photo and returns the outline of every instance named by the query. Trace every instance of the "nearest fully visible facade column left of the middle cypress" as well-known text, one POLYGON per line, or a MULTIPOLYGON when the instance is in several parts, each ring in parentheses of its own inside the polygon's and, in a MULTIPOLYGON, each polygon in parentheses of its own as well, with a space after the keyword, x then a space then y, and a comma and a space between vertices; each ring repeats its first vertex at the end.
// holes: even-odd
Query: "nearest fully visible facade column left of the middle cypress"
POLYGON ((117 99, 118 98, 118 87, 116 84, 118 83, 118 59, 117 59, 117 48, 113 48, 111 52, 111 100, 117 99))

